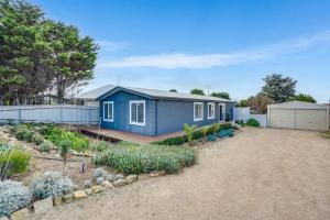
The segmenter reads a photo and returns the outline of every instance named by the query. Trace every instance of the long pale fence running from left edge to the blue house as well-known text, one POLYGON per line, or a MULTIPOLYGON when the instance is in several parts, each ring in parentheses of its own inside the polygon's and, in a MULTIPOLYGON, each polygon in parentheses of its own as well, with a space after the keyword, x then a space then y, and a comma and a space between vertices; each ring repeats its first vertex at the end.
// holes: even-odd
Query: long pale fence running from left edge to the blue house
POLYGON ((99 107, 70 105, 2 106, 0 121, 97 124, 99 111, 99 107))

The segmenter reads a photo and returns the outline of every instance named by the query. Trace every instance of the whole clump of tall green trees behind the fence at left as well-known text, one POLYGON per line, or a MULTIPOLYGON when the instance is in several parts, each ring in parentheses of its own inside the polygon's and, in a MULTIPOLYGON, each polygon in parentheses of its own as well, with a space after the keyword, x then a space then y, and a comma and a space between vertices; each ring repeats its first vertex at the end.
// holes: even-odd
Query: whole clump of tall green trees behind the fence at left
POLYGON ((63 102, 67 89, 92 78, 97 50, 76 28, 45 20, 38 7, 0 0, 0 105, 29 103, 46 90, 63 102))

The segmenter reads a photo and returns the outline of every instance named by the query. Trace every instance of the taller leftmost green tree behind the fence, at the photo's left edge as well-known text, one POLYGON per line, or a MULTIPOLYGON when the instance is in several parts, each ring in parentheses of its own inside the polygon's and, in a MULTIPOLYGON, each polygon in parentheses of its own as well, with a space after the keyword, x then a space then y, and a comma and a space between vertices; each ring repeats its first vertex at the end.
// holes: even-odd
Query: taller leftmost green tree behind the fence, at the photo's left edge
POLYGON ((25 1, 0 1, 0 105, 23 102, 50 84, 43 12, 25 1))

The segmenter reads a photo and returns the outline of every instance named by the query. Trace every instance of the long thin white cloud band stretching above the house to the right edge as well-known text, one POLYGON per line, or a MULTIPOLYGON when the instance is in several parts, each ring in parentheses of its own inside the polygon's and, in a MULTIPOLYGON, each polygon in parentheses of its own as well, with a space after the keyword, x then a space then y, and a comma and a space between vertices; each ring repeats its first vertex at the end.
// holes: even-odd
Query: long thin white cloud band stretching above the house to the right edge
POLYGON ((216 53, 216 54, 187 54, 169 53, 147 56, 129 56, 117 61, 101 61, 98 68, 122 68, 122 67, 153 67, 153 68, 211 68, 219 66, 233 66, 240 64, 250 64, 279 55, 297 54, 312 46, 326 46, 330 44, 330 32, 297 38, 294 41, 266 45, 258 48, 248 50, 235 53, 216 53))

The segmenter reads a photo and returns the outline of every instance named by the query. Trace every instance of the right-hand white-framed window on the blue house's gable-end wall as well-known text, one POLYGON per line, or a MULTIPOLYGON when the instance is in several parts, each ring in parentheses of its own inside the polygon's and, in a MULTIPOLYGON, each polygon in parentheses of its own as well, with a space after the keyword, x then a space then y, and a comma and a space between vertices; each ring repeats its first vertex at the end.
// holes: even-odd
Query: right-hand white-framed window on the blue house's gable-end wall
POLYGON ((130 124, 145 125, 145 101, 130 101, 130 124))

